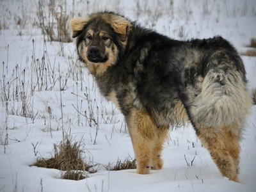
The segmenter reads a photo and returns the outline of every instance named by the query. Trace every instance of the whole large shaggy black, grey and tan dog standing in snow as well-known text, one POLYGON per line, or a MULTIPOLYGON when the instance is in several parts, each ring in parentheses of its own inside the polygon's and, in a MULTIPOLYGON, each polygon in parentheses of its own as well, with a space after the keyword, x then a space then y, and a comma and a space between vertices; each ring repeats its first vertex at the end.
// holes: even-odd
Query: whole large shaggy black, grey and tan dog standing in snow
POLYGON ((251 100, 243 61, 227 40, 173 40, 112 12, 70 26, 80 60, 125 116, 138 173, 162 168, 168 127, 189 121, 222 175, 238 181, 251 100))

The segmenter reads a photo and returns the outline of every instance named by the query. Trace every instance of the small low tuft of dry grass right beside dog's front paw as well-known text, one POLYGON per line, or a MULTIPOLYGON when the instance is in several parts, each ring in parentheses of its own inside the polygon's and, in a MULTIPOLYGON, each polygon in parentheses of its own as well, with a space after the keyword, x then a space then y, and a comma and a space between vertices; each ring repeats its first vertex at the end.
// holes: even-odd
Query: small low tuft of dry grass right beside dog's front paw
POLYGON ((136 169, 136 159, 127 157, 123 162, 117 159, 115 166, 108 166, 109 171, 132 170, 136 169))

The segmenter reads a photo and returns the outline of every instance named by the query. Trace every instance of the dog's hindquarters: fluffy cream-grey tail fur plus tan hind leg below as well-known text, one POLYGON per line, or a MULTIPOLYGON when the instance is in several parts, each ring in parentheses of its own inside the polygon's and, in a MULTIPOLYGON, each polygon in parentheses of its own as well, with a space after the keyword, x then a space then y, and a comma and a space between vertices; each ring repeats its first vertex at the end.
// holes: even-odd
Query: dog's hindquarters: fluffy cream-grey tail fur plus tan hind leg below
MULTIPOLYGON (((221 53, 217 52, 216 56, 218 54, 221 53)), ((212 68, 202 82, 201 91, 191 99, 193 102, 188 109, 196 133, 220 172, 237 181, 239 140, 251 100, 244 74, 235 70, 231 59, 225 59, 220 56, 209 63, 212 68)))

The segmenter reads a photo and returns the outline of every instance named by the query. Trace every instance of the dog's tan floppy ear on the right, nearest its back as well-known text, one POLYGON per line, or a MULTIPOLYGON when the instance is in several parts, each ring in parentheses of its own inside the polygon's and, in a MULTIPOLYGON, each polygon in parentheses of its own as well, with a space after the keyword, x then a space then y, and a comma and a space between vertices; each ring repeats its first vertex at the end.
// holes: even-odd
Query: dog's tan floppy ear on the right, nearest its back
POLYGON ((113 17, 111 19, 111 27, 115 31, 115 33, 118 34, 120 37, 120 40, 123 42, 126 40, 127 35, 131 31, 132 24, 129 22, 129 20, 125 19, 124 17, 118 16, 113 17))

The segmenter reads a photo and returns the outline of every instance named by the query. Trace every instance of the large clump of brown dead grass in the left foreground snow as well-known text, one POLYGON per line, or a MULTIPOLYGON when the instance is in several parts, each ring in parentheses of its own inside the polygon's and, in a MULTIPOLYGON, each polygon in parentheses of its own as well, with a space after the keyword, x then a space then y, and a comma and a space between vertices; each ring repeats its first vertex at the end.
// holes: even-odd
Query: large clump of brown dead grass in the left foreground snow
POLYGON ((83 172, 90 172, 92 165, 83 161, 83 148, 81 142, 72 143, 68 138, 61 141, 60 145, 54 145, 54 157, 50 159, 40 158, 33 166, 54 168, 66 171, 61 179, 84 179, 83 172))

